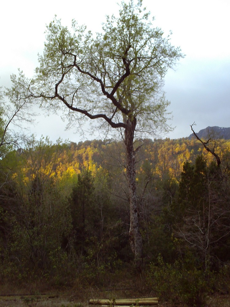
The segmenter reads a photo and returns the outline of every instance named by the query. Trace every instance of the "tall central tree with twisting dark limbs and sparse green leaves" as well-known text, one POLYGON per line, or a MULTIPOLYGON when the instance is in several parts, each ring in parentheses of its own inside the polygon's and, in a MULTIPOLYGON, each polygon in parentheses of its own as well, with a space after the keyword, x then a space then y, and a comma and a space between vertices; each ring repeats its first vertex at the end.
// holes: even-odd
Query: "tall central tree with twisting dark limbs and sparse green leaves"
POLYGON ((126 147, 130 203, 130 244, 136 264, 142 258, 138 225, 135 149, 136 133, 155 134, 167 125, 169 102, 163 78, 182 57, 181 50, 152 26, 150 13, 137 4, 121 2, 119 16, 107 16, 96 37, 72 22, 73 31, 59 20, 47 26, 44 53, 34 80, 34 97, 56 111, 67 107, 70 123, 98 120, 100 127, 119 130, 126 147), (58 104, 58 101, 60 104, 58 104), (73 112, 71 112, 73 111, 73 112))

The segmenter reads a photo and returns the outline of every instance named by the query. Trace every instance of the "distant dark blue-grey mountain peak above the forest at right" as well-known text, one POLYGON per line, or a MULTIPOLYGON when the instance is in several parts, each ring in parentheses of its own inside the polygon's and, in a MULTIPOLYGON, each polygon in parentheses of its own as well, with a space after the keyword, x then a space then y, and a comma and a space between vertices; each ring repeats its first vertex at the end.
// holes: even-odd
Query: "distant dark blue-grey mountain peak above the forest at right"
MULTIPOLYGON (((196 131, 195 131, 196 132, 196 131)), ((196 132, 197 136, 199 138, 208 140, 209 138, 223 138, 225 140, 230 139, 230 127, 224 128, 224 127, 207 127, 205 129, 200 130, 198 133, 196 132)), ((189 139, 195 138, 195 135, 192 133, 188 137, 189 139)))

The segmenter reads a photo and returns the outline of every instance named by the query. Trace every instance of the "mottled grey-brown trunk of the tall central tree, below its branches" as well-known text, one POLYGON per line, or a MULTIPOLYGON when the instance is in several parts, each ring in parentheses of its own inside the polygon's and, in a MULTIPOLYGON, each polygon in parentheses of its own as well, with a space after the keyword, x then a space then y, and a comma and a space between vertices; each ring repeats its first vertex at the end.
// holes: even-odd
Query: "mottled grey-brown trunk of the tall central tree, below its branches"
POLYGON ((133 148, 134 131, 136 128, 136 118, 128 119, 125 128, 125 146, 126 146, 126 173, 129 189, 129 205, 130 205, 130 228, 129 242, 132 252, 135 255, 135 264, 140 267, 142 263, 142 238, 138 223, 137 214, 137 196, 136 196, 136 166, 135 151, 133 148))

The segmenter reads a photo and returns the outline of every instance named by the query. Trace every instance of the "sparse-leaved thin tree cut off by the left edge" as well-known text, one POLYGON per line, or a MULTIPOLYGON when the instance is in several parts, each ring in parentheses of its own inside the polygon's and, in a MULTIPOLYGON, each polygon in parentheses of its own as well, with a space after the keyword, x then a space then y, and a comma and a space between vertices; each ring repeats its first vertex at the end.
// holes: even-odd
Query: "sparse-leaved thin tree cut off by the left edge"
MULTIPOLYGON (((18 76, 11 75, 11 87, 0 87, 0 212, 1 218, 15 209, 15 186, 12 180, 13 165, 17 164, 14 153, 9 151, 19 145, 24 138, 23 126, 25 122, 33 121, 31 112, 31 92, 29 91, 29 80, 19 71, 18 76), (19 131, 20 132, 19 132, 19 131), (8 157, 6 155, 8 154, 8 157)), ((11 219, 8 219, 10 221, 11 219)), ((6 234, 6 229, 10 229, 10 222, 2 224, 0 229, 6 234)), ((4 235, 3 235, 4 237, 4 235)), ((1 249, 1 247, 0 247, 1 249)))

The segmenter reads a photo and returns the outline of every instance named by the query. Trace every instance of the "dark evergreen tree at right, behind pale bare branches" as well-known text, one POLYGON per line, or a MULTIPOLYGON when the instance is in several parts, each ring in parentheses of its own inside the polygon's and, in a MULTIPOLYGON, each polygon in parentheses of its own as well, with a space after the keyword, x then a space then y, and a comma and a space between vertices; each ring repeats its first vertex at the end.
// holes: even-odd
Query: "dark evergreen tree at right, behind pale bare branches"
POLYGON ((203 156, 195 165, 186 162, 171 207, 175 236, 200 256, 206 270, 215 258, 225 261, 229 250, 229 181, 219 169, 214 162, 208 166, 203 156))

